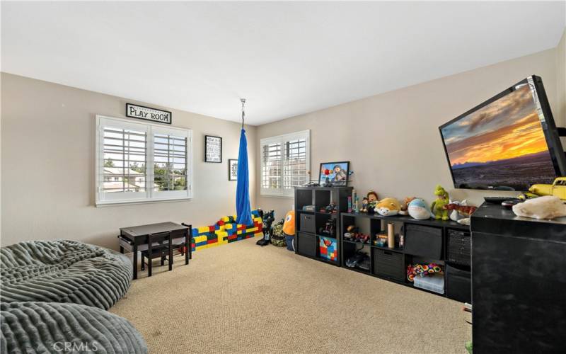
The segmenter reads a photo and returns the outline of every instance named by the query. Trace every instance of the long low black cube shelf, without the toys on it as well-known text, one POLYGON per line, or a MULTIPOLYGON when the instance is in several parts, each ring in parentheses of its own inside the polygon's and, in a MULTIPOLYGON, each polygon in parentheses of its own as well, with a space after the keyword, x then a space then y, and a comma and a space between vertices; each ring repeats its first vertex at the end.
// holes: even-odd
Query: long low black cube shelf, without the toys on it
POLYGON ((371 215, 364 213, 342 212, 340 214, 340 250, 342 267, 355 270, 360 273, 374 276, 376 278, 390 280, 400 285, 413 287, 418 290, 430 292, 428 290, 415 287, 412 282, 406 279, 407 265, 417 263, 415 261, 434 261, 443 265, 444 268, 444 294, 430 292, 434 295, 440 295, 455 299, 457 301, 470 302, 470 269, 465 264, 470 264, 470 253, 466 254, 469 247, 470 227, 458 224, 454 221, 442 221, 435 219, 417 220, 412 217, 395 215, 391 217, 383 217, 381 215, 371 215), (347 257, 352 250, 359 249, 359 242, 352 242, 343 239, 343 234, 350 225, 357 225, 359 219, 369 219, 370 222, 370 242, 364 244, 364 248, 371 250, 371 267, 369 272, 364 272, 356 268, 348 268, 345 266, 347 257), (389 249, 388 246, 375 246, 373 241, 376 234, 386 234, 386 224, 395 224, 395 235, 399 233, 400 227, 403 227, 405 235, 405 247, 398 245, 398 239, 395 238, 395 247, 389 249), (382 225, 383 224, 383 225, 382 225), (453 237, 453 244, 448 244, 449 235, 453 237), (457 236, 458 247, 454 244, 454 237, 457 236), (358 244, 358 245, 357 245, 358 244), (409 245, 409 246, 407 246, 409 245), (450 247, 449 247, 450 246, 450 247), (453 253, 449 253, 452 250, 453 253), (467 257, 467 259, 466 259, 467 257), (451 260, 456 259, 456 262, 451 260), (466 262, 467 261, 467 262, 466 262), (454 268, 456 266, 456 268, 454 268), (451 268, 451 272, 447 272, 447 268, 451 268))

